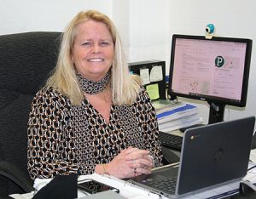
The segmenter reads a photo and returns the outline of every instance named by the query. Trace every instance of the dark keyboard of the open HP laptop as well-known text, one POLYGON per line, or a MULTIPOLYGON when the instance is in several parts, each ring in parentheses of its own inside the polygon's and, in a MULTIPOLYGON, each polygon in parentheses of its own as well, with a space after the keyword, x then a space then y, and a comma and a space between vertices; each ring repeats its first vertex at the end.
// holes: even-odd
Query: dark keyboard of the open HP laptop
POLYGON ((175 194, 177 177, 168 179, 153 180, 148 182, 148 185, 158 190, 163 190, 167 193, 175 194))

